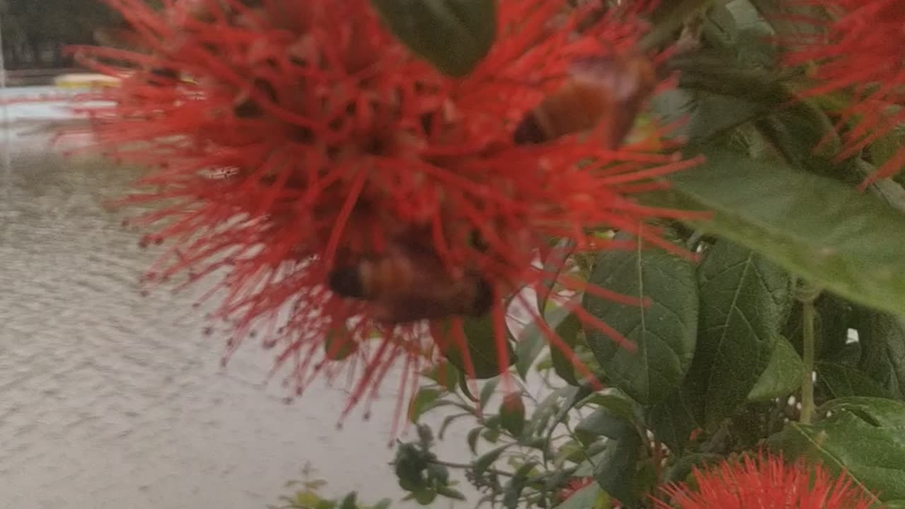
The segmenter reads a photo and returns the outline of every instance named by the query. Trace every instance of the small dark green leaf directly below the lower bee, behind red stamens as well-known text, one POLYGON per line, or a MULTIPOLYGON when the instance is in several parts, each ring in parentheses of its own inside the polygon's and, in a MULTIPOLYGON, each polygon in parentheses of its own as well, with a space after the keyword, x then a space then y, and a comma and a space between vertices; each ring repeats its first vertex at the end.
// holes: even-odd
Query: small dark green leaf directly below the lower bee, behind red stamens
MULTIPOLYGON (((472 376, 476 379, 490 379, 502 372, 500 366, 500 356, 497 348, 497 341, 506 341, 504 338, 497 338, 493 331, 493 322, 491 316, 483 316, 481 318, 462 318, 456 320, 446 320, 433 324, 431 332, 437 348, 443 352, 446 360, 462 371, 466 376, 472 376), (456 320, 462 320, 462 331, 456 331, 456 320), (460 332, 464 334, 465 343, 468 351, 462 355, 462 346, 460 344, 460 332), (471 361, 471 367, 468 365, 471 361), (472 369, 469 369, 472 368, 472 369)), ((515 363, 515 352, 512 351, 512 345, 506 341, 506 352, 508 366, 515 363)))

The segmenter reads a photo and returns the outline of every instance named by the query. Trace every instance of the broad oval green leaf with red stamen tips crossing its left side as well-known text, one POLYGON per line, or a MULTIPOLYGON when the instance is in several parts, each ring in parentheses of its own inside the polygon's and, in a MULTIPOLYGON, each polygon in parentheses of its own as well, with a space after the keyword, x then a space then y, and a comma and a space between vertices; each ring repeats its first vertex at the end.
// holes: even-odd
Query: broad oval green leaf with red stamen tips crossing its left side
MULTIPOLYGON (((632 238, 620 233, 617 241, 632 238)), ((691 365, 697 338, 698 298, 694 266, 661 249, 605 251, 590 282, 615 293, 650 299, 649 306, 615 303, 585 293, 585 309, 637 345, 628 351, 603 331, 586 328, 587 343, 610 383, 653 405, 679 386, 691 365)))

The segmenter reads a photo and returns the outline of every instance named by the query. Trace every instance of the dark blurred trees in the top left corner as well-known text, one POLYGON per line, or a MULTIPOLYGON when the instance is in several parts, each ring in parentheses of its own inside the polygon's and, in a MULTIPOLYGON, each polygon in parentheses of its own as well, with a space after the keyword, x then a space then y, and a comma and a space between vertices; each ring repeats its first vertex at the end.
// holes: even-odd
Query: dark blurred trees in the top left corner
POLYGON ((71 66, 63 47, 93 43, 96 28, 119 21, 100 0, 0 0, 6 68, 71 66))

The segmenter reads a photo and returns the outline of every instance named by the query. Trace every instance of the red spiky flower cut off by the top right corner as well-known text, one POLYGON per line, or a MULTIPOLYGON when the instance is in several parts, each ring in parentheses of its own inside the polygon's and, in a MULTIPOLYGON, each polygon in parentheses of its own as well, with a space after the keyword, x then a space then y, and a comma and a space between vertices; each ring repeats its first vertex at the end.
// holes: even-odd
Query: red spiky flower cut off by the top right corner
MULTIPOLYGON (((840 158, 858 154, 905 121, 905 4, 899 0, 796 0, 794 5, 823 6, 828 18, 808 20, 822 30, 789 41, 787 65, 813 63, 812 97, 852 91, 851 106, 839 125, 843 133, 840 158)), ((864 186, 890 177, 905 166, 905 149, 885 162, 864 186)))

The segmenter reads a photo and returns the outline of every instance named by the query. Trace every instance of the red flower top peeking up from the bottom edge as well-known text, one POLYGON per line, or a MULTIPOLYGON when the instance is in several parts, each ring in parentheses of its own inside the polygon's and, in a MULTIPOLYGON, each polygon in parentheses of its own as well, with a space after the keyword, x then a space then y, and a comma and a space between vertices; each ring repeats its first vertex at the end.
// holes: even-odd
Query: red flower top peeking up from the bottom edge
POLYGON ((670 485, 664 492, 672 505, 661 509, 868 509, 872 495, 853 485, 848 475, 831 477, 822 466, 799 460, 786 464, 782 456, 746 456, 707 470, 694 470, 696 489, 670 485))

